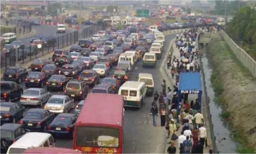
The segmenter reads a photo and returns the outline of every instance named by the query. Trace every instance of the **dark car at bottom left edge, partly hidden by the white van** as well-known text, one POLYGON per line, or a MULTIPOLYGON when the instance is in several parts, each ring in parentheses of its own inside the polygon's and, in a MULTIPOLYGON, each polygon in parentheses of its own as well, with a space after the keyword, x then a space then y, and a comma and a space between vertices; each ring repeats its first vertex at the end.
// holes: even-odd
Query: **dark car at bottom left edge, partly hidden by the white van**
POLYGON ((0 129, 1 139, 6 139, 7 145, 12 145, 27 132, 28 129, 17 123, 4 123, 0 129))

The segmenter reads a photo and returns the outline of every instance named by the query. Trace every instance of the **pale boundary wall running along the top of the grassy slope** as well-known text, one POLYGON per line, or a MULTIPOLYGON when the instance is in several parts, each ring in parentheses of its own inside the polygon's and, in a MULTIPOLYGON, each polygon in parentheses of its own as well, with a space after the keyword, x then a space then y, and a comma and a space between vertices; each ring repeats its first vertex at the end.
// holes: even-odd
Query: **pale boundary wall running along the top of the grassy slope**
POLYGON ((232 52, 236 55, 237 59, 239 59, 240 62, 252 73, 253 77, 256 77, 256 61, 247 54, 244 49, 240 48, 240 46, 238 46, 236 42, 227 35, 227 33, 220 31, 220 34, 232 52))

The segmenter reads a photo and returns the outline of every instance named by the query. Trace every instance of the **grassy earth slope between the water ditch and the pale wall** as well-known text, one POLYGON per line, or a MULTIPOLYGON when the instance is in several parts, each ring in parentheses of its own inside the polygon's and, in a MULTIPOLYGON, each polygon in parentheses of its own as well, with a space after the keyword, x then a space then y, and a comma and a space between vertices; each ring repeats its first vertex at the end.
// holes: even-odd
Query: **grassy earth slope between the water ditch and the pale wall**
POLYGON ((256 80, 220 33, 212 33, 211 38, 205 51, 212 67, 215 102, 223 108, 221 116, 231 126, 234 141, 240 143, 237 151, 256 153, 256 80))

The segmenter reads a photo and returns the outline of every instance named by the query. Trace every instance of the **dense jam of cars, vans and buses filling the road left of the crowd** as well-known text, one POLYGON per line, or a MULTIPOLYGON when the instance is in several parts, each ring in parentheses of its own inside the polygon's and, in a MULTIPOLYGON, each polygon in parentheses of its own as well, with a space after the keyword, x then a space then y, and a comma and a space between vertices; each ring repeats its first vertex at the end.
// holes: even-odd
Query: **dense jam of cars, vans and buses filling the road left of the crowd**
POLYGON ((159 29, 130 23, 56 49, 29 69, 7 68, 0 82, 1 153, 123 153, 124 107, 141 109, 154 93, 152 74, 134 81, 131 75, 138 63, 152 69, 161 59, 159 29), (73 150, 55 147, 58 138, 73 139, 73 150))

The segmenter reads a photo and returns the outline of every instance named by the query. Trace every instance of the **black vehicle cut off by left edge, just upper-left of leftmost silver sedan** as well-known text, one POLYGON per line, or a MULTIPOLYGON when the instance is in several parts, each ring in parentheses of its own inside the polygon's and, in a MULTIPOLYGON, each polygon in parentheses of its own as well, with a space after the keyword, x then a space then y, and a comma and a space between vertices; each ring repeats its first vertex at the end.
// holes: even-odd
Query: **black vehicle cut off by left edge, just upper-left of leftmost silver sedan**
POLYGON ((19 100, 23 93, 22 87, 15 81, 1 81, 0 89, 1 100, 5 102, 19 100))

